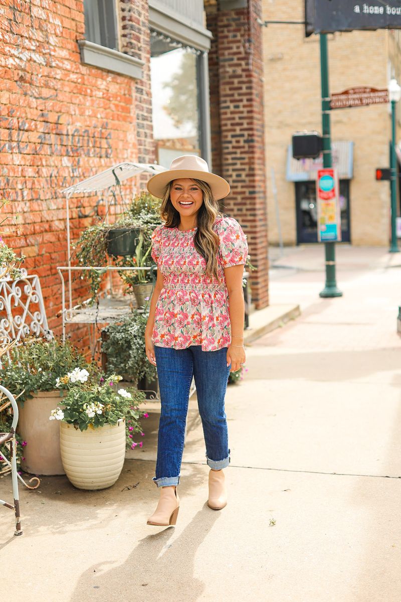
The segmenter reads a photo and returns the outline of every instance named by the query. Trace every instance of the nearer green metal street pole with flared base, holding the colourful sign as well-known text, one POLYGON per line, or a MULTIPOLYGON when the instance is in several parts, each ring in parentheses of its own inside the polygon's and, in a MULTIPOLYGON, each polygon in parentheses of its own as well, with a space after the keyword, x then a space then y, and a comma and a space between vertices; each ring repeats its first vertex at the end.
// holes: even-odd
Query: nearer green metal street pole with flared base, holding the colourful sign
MULTIPOLYGON (((330 132, 330 96, 329 67, 327 52, 327 36, 320 34, 320 72, 322 78, 322 130, 323 130, 323 167, 331 164, 331 132, 330 132)), ((326 283, 320 291, 320 297, 341 297, 343 293, 337 288, 335 281, 335 244, 325 243, 326 283)))

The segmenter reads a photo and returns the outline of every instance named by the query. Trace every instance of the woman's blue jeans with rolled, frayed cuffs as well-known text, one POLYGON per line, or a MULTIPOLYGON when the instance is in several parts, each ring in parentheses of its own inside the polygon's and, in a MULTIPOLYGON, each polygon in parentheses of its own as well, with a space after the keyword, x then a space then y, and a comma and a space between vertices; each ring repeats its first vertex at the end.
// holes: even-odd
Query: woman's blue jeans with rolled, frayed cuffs
POLYGON ((180 482, 192 376, 197 388, 207 464, 215 470, 227 467, 230 450, 224 396, 231 365, 227 367, 227 347, 218 351, 202 351, 200 345, 187 349, 155 345, 155 358, 161 397, 158 459, 153 478, 156 485, 163 487, 180 482))

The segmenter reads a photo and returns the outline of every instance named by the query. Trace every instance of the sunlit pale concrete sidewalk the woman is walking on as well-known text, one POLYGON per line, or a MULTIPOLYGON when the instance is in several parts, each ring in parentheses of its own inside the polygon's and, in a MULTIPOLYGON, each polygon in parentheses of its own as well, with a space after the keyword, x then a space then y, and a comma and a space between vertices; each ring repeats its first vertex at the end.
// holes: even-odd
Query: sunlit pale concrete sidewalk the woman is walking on
POLYGON ((194 396, 177 526, 146 526, 158 497, 148 403, 144 447, 111 489, 65 477, 21 488, 19 538, 0 509, 4 599, 401 601, 401 253, 338 245, 337 299, 319 297, 323 255, 271 249, 271 303, 302 313, 247 347, 248 372, 228 388, 227 507, 206 505, 194 396))

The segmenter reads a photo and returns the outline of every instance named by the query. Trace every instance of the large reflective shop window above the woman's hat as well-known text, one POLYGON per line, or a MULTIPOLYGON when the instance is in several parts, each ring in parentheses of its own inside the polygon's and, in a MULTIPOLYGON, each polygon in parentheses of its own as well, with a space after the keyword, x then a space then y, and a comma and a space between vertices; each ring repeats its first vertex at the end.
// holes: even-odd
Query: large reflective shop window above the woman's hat
POLYGON ((158 163, 202 154, 198 93, 200 51, 151 32, 153 137, 158 163))

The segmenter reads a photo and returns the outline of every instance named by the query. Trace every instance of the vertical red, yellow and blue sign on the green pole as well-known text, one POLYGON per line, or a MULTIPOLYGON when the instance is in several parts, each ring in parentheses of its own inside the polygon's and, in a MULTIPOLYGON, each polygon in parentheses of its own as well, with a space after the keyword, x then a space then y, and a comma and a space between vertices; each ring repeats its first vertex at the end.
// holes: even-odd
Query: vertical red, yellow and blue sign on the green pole
POLYGON ((335 169, 317 170, 317 240, 319 243, 341 241, 341 214, 338 175, 335 169))

